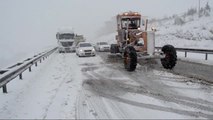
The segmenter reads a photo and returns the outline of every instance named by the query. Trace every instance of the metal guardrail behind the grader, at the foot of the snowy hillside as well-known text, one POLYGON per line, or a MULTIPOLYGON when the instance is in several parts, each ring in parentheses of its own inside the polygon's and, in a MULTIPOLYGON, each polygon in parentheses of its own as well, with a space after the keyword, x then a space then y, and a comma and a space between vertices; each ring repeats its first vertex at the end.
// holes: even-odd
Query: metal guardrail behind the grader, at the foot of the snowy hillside
MULTIPOLYGON (((155 47, 156 50, 161 50, 162 47, 155 47)), ((185 57, 187 53, 201 53, 205 54, 205 60, 208 60, 208 55, 213 54, 213 50, 208 49, 190 49, 190 48, 175 48, 179 52, 185 52, 185 57)))

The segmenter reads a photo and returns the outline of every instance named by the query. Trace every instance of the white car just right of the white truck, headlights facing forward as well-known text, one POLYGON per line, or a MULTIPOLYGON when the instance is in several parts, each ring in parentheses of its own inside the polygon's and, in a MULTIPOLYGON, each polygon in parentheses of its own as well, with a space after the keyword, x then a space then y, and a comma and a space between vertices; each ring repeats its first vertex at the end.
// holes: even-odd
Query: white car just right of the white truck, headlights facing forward
POLYGON ((79 57, 82 56, 95 56, 96 52, 91 43, 88 42, 80 42, 76 46, 76 55, 79 57))

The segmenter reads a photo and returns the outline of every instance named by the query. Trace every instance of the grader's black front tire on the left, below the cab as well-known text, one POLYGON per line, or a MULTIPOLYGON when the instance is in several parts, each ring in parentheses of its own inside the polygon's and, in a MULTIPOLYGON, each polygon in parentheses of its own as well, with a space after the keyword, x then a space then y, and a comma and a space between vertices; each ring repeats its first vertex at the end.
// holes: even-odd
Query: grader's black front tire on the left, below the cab
POLYGON ((137 66, 137 53, 134 47, 128 46, 124 50, 124 67, 127 71, 134 71, 137 66))

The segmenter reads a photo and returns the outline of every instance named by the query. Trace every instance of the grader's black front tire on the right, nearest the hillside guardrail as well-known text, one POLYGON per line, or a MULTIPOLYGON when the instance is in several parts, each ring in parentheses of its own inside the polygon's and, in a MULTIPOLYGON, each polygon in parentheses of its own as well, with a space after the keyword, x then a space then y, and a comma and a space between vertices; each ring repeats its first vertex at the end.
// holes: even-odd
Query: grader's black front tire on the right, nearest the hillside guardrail
POLYGON ((165 58, 161 59, 161 64, 165 69, 172 69, 176 65, 177 61, 177 52, 174 46, 165 45, 162 48, 165 58))

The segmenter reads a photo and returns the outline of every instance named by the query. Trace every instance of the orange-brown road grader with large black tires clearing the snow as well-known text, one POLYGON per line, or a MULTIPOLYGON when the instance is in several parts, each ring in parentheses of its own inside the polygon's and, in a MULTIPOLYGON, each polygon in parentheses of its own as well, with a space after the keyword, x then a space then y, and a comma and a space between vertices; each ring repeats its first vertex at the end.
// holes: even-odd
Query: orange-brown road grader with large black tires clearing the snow
POLYGON ((139 60, 161 59, 165 69, 172 69, 177 61, 176 49, 165 45, 155 50, 155 31, 147 31, 148 20, 138 12, 117 15, 116 44, 111 44, 111 54, 121 54, 127 71, 134 71, 139 60))

